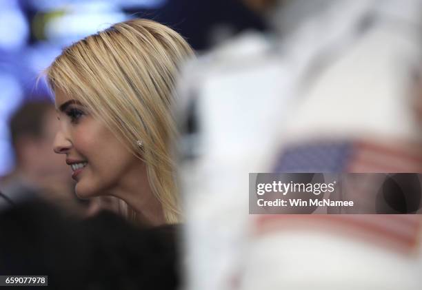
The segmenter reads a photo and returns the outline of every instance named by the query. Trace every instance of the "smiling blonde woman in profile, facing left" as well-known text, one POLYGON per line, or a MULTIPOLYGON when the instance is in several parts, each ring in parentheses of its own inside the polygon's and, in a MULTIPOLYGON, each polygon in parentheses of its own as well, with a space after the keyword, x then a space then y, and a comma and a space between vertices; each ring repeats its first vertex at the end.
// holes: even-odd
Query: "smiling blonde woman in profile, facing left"
POLYGON ((46 70, 66 154, 81 198, 114 196, 145 225, 180 220, 169 145, 179 65, 193 52, 170 28, 117 23, 63 50, 46 70))

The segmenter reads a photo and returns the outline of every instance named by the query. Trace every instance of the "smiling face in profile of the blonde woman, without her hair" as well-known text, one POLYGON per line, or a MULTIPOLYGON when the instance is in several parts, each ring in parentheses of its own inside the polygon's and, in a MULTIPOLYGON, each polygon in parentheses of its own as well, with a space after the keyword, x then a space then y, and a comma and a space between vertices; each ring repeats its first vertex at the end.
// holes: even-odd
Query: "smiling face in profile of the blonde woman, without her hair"
POLYGON ((60 126, 54 152, 66 154, 80 198, 110 194, 127 176, 143 170, 143 163, 82 103, 57 90, 56 107, 60 126))

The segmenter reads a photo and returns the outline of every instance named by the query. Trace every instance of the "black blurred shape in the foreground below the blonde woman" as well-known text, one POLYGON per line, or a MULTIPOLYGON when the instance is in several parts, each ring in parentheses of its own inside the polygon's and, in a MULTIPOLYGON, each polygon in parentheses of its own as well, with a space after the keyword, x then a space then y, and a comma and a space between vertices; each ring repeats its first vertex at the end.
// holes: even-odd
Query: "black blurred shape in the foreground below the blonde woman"
POLYGON ((32 200, 0 212, 0 273, 48 276, 50 289, 177 289, 176 231, 110 211, 70 219, 32 200))

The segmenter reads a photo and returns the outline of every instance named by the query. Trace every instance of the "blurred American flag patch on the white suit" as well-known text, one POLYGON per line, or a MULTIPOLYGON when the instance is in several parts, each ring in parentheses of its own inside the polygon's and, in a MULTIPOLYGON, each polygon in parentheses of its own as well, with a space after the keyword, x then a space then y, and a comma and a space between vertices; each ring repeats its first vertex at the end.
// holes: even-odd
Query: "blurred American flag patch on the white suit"
MULTIPOLYGON (((422 173, 422 145, 394 140, 321 141, 294 145, 283 151, 274 172, 422 173)), ((365 189, 362 190, 359 194, 365 194, 365 189)), ((419 215, 263 215, 257 217, 256 232, 263 234, 292 225, 312 229, 322 227, 333 234, 343 232, 352 238, 361 237, 404 251, 411 251, 421 244, 419 215)))

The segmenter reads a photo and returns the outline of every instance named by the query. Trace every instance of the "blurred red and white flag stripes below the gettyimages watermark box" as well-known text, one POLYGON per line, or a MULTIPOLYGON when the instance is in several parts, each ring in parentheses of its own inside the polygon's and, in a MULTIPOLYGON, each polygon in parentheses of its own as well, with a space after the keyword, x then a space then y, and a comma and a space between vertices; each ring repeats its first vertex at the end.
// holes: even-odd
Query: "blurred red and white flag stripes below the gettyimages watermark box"
POLYGON ((324 231, 334 236, 370 242, 409 253, 421 247, 419 215, 279 214, 255 217, 256 236, 274 231, 324 231))

